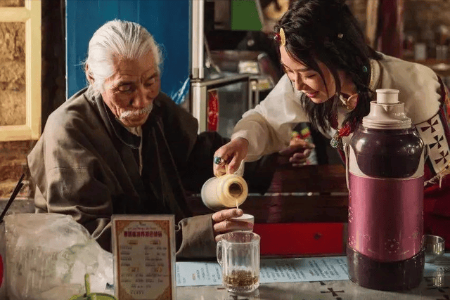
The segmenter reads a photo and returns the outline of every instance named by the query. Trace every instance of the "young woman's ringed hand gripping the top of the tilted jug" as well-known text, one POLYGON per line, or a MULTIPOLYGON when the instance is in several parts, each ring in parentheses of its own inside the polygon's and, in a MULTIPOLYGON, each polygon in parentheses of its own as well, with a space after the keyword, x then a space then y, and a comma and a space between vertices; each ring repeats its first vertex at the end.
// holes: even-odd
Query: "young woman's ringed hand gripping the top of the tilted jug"
POLYGON ((241 162, 247 156, 248 141, 245 138, 235 138, 217 149, 214 153, 212 169, 215 176, 233 174, 239 169, 241 162), (217 159, 219 157, 219 159, 217 159), (219 160, 219 164, 217 164, 219 160))

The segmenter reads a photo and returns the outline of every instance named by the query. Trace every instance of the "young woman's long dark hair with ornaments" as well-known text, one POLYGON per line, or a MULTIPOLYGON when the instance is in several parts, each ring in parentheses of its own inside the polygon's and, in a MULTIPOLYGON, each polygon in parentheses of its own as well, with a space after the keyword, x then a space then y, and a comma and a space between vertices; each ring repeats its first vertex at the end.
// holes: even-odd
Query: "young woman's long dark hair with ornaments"
MULTIPOLYGON (((340 93, 338 70, 346 72, 352 79, 359 94, 359 101, 344 123, 355 129, 362 118, 368 115, 374 93, 368 87, 371 79, 370 59, 380 60, 381 56, 364 41, 359 22, 352 15, 345 0, 295 1, 278 21, 275 32, 279 32, 281 27, 285 32, 285 48, 288 54, 318 72, 325 82, 316 60, 324 63, 335 78, 337 93, 340 93)), ((302 95, 301 103, 316 128, 329 129, 330 126, 338 126, 338 96, 316 104, 306 95, 302 95)))

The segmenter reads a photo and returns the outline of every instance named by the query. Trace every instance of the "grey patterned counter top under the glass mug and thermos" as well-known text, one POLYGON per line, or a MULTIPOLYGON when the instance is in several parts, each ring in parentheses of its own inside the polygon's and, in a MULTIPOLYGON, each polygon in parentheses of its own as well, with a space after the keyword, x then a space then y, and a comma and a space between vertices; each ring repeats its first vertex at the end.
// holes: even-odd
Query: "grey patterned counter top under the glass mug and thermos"
POLYGON ((262 282, 251 294, 237 295, 221 285, 176 288, 178 300, 450 300, 450 256, 425 264, 424 278, 414 289, 385 292, 360 287, 350 280, 262 282))

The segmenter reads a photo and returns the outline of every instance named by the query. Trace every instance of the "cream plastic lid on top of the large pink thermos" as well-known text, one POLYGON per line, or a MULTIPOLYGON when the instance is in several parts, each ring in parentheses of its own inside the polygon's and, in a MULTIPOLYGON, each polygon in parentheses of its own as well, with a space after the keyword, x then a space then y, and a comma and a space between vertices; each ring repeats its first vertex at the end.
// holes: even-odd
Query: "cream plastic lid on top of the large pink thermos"
POLYGON ((411 128, 404 103, 399 102, 399 90, 377 89, 377 100, 371 101, 371 112, 363 118, 363 126, 371 129, 411 128))

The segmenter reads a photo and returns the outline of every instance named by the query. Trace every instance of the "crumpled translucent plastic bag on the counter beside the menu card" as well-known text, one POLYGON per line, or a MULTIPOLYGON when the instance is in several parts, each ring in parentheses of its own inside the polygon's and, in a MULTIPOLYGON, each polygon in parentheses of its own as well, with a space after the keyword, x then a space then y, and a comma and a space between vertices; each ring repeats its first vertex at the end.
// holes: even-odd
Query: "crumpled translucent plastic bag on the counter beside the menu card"
POLYGON ((113 254, 103 250, 72 216, 6 216, 7 293, 10 300, 61 300, 91 289, 112 294, 113 254))

